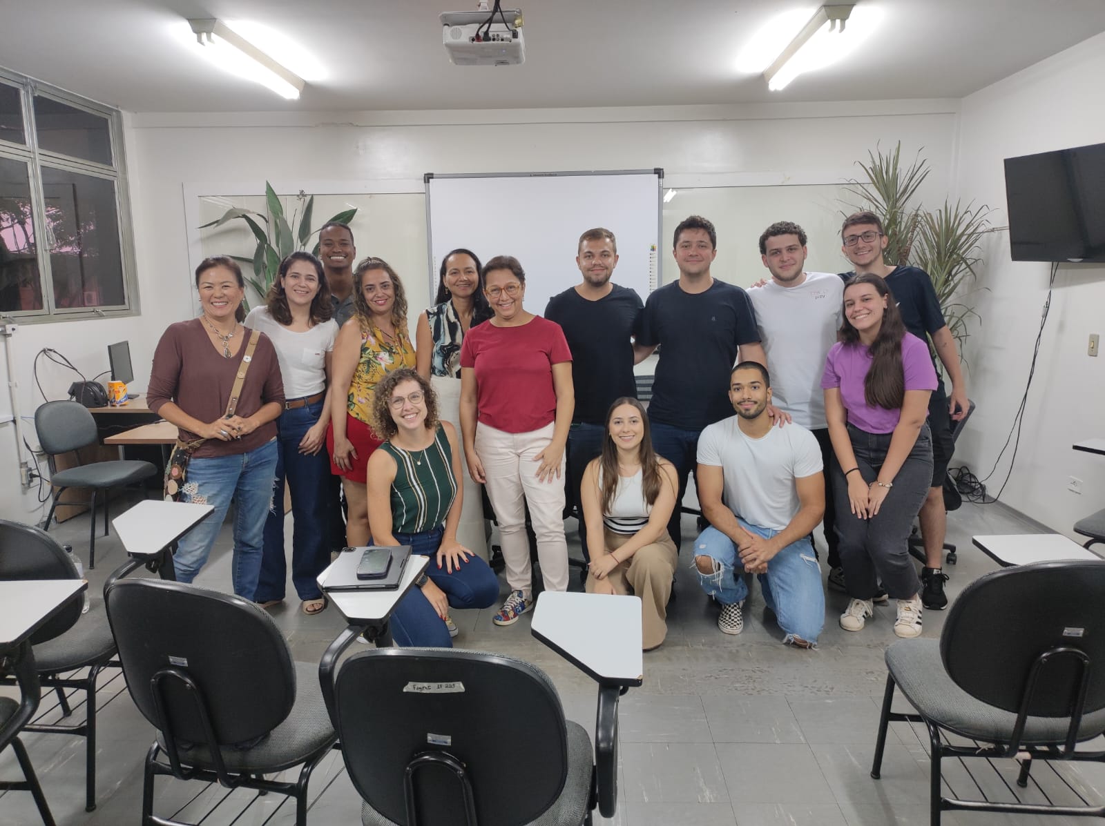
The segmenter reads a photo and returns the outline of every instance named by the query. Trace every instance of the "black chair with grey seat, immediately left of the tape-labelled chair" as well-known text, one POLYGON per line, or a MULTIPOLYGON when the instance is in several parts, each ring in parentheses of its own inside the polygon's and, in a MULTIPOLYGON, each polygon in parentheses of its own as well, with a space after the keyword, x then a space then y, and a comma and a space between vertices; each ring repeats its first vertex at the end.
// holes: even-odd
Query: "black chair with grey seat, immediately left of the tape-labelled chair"
POLYGON ((158 775, 280 792, 304 826, 311 772, 335 742, 317 666, 293 663, 272 617, 240 596, 144 579, 108 585, 105 599, 127 690, 158 730, 143 826, 176 823, 154 816, 158 775), (297 765, 295 782, 262 776, 297 765))

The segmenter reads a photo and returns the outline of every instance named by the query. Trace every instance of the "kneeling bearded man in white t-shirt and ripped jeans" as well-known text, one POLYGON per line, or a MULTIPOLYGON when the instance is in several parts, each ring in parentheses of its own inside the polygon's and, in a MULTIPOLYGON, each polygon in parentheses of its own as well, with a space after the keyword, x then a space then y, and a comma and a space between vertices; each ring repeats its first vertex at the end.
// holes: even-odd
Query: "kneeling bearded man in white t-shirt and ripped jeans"
POLYGON ((812 648, 824 625, 821 569, 809 534, 824 511, 821 449, 800 424, 774 427, 767 368, 743 361, 729 375, 737 415, 698 438, 698 501, 712 527, 695 541, 703 590, 722 604, 717 627, 744 629, 745 572, 758 574, 764 602, 785 643, 812 648))

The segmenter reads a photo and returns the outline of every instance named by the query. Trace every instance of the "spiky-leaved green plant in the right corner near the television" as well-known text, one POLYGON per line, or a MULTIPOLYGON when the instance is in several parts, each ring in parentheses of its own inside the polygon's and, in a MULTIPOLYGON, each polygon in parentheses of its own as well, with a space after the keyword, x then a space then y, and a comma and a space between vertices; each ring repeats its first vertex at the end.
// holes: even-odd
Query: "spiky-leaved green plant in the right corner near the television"
POLYGON ((850 211, 871 210, 883 218, 887 263, 908 264, 928 273, 964 359, 967 319, 974 316, 981 321, 968 301, 977 292, 972 285, 982 262, 981 240, 991 231, 990 208, 945 200, 938 210, 929 211, 914 204, 930 168, 918 151, 913 163, 902 169, 901 152, 898 141, 893 152, 884 155, 876 146, 867 152, 867 163, 856 161, 866 180, 849 181, 845 191, 856 200, 848 205, 850 211))

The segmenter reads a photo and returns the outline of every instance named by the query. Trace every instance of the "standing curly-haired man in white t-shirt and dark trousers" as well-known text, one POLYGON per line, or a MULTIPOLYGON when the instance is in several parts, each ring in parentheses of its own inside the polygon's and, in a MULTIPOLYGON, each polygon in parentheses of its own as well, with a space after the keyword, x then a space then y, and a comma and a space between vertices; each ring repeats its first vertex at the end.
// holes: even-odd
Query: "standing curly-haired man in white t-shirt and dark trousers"
POLYGON ((792 221, 777 221, 759 237, 760 260, 771 279, 748 290, 756 326, 771 371, 775 406, 813 432, 821 446, 825 475, 825 544, 829 581, 843 589, 829 467, 832 442, 825 423, 821 373, 825 356, 836 341, 843 308, 844 283, 834 273, 808 273, 806 231, 792 221), (836 578, 839 576, 839 582, 836 578))

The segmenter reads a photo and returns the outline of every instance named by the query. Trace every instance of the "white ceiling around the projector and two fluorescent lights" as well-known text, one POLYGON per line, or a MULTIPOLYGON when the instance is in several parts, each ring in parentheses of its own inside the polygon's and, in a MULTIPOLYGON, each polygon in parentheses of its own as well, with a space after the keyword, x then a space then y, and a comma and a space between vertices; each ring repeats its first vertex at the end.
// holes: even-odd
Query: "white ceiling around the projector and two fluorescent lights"
POLYGON ((0 0, 0 65, 130 112, 365 112, 962 97, 1105 31, 1102 0, 859 0, 874 38, 768 93, 735 70, 815 0, 512 0, 526 63, 453 66, 438 15, 475 0, 0 0), (263 23, 325 77, 296 102, 199 60, 186 18, 263 23))

